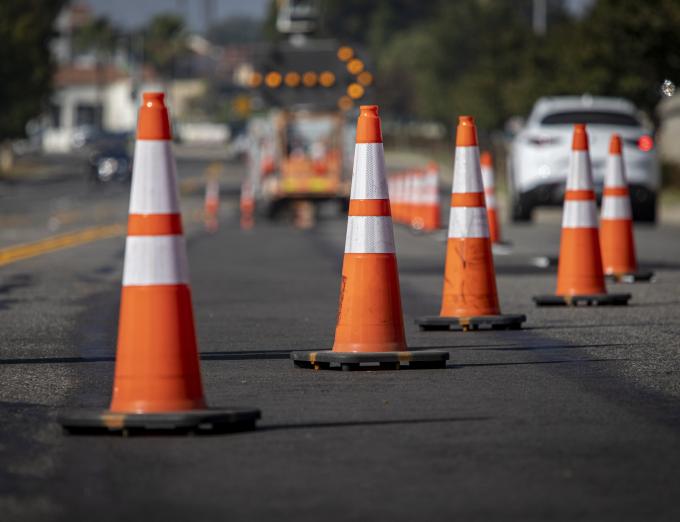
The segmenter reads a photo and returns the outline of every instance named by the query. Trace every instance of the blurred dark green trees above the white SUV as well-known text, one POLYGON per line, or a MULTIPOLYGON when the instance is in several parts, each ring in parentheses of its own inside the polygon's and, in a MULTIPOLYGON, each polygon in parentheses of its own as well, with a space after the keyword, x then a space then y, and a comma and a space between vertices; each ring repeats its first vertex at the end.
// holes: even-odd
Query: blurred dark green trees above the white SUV
POLYGON ((320 36, 370 50, 393 116, 450 124, 469 113, 491 129, 539 96, 584 92, 653 113, 664 78, 680 80, 678 0, 596 0, 579 18, 550 0, 544 36, 531 0, 319 2, 320 36))

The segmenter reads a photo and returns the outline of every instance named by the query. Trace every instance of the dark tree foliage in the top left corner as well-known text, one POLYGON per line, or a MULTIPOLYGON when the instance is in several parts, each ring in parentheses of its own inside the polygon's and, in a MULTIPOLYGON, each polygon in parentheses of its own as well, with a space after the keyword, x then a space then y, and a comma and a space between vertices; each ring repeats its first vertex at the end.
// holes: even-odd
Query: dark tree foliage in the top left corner
POLYGON ((64 0, 0 2, 0 141, 24 135, 45 108, 52 63, 49 42, 64 0))

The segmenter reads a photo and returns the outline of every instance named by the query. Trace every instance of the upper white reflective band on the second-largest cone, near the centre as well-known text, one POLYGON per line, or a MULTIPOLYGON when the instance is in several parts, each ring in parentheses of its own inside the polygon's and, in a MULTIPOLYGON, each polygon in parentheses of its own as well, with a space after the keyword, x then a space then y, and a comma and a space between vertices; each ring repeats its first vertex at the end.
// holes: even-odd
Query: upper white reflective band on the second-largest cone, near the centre
POLYGON ((357 143, 354 148, 352 199, 387 199, 382 143, 357 143))

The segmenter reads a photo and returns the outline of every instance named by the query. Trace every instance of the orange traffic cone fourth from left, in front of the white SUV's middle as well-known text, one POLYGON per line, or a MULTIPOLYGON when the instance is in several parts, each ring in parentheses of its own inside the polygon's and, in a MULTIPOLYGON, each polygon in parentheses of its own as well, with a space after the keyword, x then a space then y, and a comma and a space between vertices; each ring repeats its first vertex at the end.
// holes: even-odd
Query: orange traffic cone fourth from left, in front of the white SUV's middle
POLYGON ((564 195, 555 295, 536 296, 539 306, 621 305, 630 294, 607 294, 597 231, 597 208, 586 126, 574 125, 571 164, 564 195))

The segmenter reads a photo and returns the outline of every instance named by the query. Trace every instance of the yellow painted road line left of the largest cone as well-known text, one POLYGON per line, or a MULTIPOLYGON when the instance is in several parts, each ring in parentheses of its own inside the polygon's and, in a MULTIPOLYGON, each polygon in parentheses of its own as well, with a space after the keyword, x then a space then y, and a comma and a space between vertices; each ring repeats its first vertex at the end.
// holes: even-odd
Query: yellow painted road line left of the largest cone
POLYGON ((121 236, 125 233, 125 226, 117 223, 100 227, 91 227, 76 232, 59 234, 32 243, 24 243, 0 249, 0 266, 16 263, 22 259, 39 256, 70 248, 100 239, 121 236))

